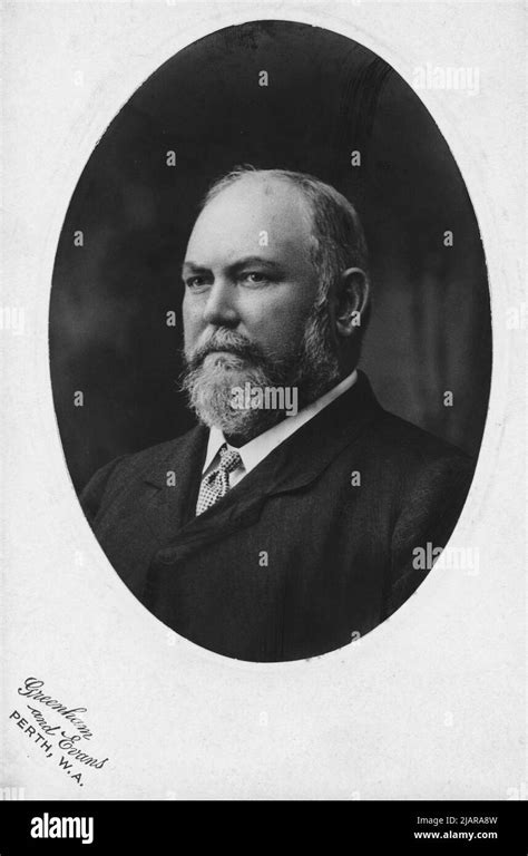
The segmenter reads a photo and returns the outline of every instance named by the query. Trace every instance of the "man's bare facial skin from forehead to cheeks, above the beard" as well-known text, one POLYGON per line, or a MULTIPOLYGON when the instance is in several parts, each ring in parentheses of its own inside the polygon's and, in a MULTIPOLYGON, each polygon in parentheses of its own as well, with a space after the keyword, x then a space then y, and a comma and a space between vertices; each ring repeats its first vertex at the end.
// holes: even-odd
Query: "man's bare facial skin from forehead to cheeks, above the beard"
POLYGON ((247 176, 224 189, 199 215, 187 246, 187 358, 222 328, 274 363, 291 360, 317 294, 311 250, 311 216, 295 187, 247 176))

